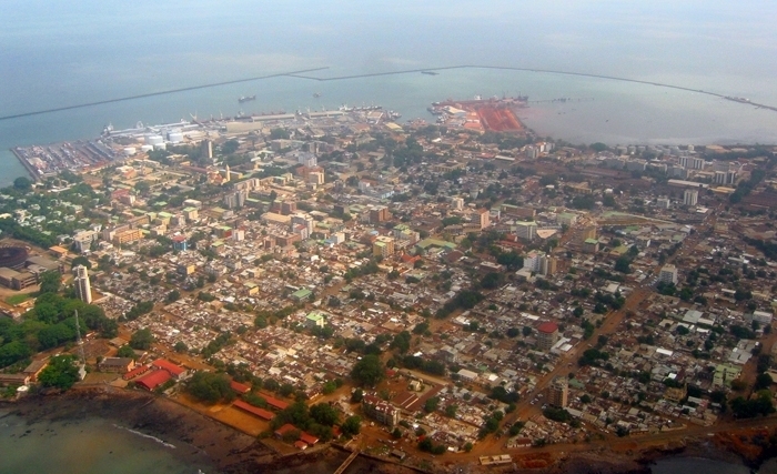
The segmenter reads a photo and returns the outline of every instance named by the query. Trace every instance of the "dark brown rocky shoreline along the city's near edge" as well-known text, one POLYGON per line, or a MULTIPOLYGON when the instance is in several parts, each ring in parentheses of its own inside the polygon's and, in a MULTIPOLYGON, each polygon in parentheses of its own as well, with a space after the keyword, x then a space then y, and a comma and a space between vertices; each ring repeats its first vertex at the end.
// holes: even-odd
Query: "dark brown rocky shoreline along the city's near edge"
MULTIPOLYGON (((112 387, 79 389, 59 395, 30 396, 16 403, 0 404, 0 409, 23 417, 30 424, 40 421, 83 421, 89 417, 110 420, 117 425, 153 435, 176 446, 185 446, 175 450, 174 455, 186 462, 205 462, 213 471, 225 474, 334 472, 347 457, 347 453, 334 448, 281 456, 253 436, 238 432, 174 401, 112 387)), ((703 457, 756 467, 750 463, 746 464, 739 455, 720 450, 709 440, 692 440, 683 445, 649 447, 625 454, 609 451, 574 452, 551 467, 511 472, 648 474, 655 461, 672 456, 703 457)), ((445 465, 430 466, 428 471, 451 472, 453 467, 455 465, 448 462, 445 465)), ((467 467, 470 472, 493 472, 478 465, 471 464, 467 467)), ((379 458, 360 456, 357 462, 349 467, 349 473, 356 472, 412 471, 405 466, 383 463, 379 458)))

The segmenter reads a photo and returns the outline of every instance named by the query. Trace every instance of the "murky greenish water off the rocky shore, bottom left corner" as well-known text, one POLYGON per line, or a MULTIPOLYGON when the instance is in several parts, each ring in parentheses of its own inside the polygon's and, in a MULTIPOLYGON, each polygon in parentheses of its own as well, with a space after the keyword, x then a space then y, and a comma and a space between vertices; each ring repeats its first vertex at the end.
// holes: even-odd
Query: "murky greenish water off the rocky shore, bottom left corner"
POLYGON ((212 472, 206 461, 193 464, 175 456, 176 450, 191 446, 173 446, 100 418, 28 424, 17 416, 0 417, 0 474, 212 472))

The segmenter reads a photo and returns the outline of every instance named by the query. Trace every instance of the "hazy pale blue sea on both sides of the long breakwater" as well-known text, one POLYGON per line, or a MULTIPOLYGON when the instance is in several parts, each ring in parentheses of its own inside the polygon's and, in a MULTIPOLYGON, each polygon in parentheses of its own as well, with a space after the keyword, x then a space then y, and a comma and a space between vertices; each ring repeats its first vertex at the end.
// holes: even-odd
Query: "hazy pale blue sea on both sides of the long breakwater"
MULTIPOLYGON (((461 64, 605 74, 777 105, 776 17, 777 2, 759 0, 6 0, 0 117, 313 68, 327 69, 303 75, 461 64)), ((0 120, 0 185, 24 174, 10 148, 92 139, 108 123, 342 104, 433 120, 434 101, 519 93, 573 99, 519 114, 573 143, 777 143, 777 112, 609 79, 477 68, 281 77, 0 120)))

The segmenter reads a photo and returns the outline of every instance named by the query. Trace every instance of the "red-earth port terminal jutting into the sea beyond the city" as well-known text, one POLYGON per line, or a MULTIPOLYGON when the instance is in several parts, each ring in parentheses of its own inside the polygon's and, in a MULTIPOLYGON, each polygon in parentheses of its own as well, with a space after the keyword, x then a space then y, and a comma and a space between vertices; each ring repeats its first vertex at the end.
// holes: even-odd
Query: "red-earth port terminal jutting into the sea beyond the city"
POLYGON ((526 128, 514 109, 527 107, 527 98, 475 99, 435 102, 428 111, 437 115, 437 123, 481 132, 522 134, 526 128))

